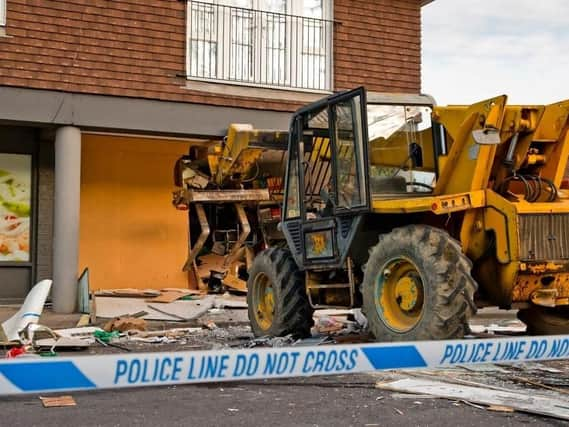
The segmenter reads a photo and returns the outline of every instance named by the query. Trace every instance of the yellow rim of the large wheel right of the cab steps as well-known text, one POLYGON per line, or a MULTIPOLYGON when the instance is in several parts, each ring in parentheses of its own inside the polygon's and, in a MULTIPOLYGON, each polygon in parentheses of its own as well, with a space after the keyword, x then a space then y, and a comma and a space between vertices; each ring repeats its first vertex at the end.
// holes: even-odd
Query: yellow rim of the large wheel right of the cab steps
POLYGON ((423 279, 406 257, 394 258, 379 271, 376 309, 383 322, 395 332, 409 332, 423 315, 423 279))

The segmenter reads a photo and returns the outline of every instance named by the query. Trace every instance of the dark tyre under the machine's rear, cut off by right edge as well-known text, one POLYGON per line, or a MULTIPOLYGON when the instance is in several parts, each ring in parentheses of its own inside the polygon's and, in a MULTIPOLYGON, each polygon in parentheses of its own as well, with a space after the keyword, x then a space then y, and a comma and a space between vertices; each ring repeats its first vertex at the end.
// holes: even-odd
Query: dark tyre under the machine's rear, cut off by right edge
POLYGON ((527 325, 531 335, 569 334, 569 307, 532 306, 518 311, 518 319, 527 325))

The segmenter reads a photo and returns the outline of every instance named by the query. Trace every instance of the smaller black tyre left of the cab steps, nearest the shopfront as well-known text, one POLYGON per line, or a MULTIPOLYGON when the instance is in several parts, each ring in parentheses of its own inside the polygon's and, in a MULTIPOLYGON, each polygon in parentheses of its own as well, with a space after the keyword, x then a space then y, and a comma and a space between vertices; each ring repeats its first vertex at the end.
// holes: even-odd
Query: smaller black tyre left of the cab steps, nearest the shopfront
POLYGON ((286 249, 267 249, 255 257, 247 280, 247 305, 251 329, 257 337, 310 336, 314 310, 308 302, 304 276, 286 249), (260 287, 266 287, 267 281, 272 287, 271 319, 258 310, 260 287))

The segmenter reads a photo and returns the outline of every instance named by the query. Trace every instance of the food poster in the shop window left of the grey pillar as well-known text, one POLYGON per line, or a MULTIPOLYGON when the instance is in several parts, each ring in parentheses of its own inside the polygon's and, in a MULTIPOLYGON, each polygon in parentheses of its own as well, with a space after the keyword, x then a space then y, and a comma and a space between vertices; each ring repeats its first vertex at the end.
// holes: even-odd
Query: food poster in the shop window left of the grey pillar
POLYGON ((30 260, 32 156, 0 153, 0 262, 30 260))

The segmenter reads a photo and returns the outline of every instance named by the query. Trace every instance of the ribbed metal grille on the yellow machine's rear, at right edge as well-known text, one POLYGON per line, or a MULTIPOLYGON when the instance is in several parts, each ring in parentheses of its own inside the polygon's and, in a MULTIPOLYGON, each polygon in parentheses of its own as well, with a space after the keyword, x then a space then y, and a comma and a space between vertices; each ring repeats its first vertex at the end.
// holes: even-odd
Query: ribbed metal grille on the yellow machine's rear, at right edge
POLYGON ((569 259, 569 214, 520 215, 523 261, 569 259))

